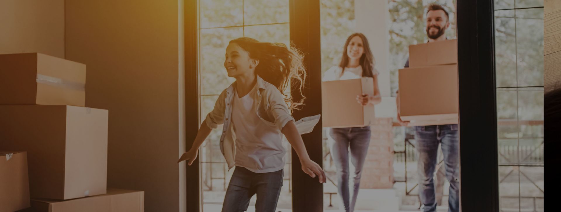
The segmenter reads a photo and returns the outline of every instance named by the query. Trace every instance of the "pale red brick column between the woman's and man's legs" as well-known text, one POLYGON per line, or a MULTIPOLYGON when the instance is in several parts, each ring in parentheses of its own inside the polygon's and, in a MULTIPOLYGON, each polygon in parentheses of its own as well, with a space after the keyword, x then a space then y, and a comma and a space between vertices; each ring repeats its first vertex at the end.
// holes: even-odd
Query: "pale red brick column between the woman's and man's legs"
POLYGON ((368 155, 362 168, 361 188, 393 188, 393 118, 377 118, 371 126, 368 155))

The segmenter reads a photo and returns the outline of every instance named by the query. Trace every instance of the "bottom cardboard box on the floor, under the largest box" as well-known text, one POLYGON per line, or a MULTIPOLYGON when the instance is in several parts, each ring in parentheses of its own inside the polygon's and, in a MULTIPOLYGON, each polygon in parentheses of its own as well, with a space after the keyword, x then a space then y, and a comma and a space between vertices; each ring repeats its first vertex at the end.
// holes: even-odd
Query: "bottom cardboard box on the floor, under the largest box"
POLYGON ((143 212, 144 191, 108 188, 107 194, 80 199, 31 200, 35 212, 143 212))

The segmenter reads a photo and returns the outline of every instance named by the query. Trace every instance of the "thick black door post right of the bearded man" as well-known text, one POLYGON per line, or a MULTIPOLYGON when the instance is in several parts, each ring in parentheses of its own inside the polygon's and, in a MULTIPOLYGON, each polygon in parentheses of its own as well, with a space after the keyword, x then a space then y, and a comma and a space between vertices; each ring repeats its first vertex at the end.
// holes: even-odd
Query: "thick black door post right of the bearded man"
POLYGON ((494 1, 457 2, 461 210, 499 211, 494 1))

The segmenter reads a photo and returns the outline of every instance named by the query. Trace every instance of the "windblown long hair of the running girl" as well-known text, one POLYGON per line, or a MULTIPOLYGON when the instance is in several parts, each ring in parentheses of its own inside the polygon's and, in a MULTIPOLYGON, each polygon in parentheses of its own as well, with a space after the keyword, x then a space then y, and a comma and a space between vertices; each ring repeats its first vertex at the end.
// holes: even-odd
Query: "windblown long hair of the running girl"
POLYGON ((304 105, 305 96, 302 94, 302 87, 306 79, 306 71, 302 59, 304 56, 295 47, 287 47, 283 43, 259 42, 252 38, 237 38, 230 43, 238 44, 241 48, 249 52, 250 58, 259 60, 255 67, 255 73, 263 80, 273 84, 280 93, 284 95, 284 100, 290 105, 289 109, 299 109, 298 106, 304 105), (296 81, 295 81, 296 80, 296 81), (300 90, 302 99, 293 102, 292 97, 284 94, 287 86, 298 83, 292 89, 300 90))

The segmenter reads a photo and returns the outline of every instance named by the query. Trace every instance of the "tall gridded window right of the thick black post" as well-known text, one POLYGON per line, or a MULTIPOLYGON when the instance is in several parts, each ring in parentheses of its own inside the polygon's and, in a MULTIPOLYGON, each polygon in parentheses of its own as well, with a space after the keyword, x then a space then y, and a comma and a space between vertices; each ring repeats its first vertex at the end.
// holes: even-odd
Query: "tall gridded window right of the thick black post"
POLYGON ((495 11, 497 86, 513 87, 496 90, 501 211, 544 207, 543 2, 495 1, 495 10, 541 7, 495 11))

